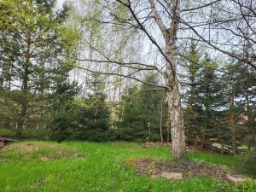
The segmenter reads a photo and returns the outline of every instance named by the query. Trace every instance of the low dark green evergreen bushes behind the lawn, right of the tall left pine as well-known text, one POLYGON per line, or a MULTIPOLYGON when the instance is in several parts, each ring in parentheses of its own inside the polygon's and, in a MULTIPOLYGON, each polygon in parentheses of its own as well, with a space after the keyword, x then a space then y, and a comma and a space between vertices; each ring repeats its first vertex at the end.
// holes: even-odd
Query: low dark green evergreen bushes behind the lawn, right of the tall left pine
POLYGON ((103 95, 74 100, 70 108, 61 108, 52 115, 48 127, 50 138, 58 142, 115 138, 114 132, 109 131, 109 110, 103 95))

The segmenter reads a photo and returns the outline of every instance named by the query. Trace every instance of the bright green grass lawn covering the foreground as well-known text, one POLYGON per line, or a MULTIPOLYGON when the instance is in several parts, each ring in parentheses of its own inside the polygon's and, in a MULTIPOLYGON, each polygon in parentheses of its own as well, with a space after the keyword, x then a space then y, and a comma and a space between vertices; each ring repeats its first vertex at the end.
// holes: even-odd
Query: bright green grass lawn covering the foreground
MULTIPOLYGON (((136 175, 125 160, 154 157, 170 160, 169 150, 137 143, 50 143, 26 141, 0 153, 0 191, 192 192, 251 191, 255 183, 231 184, 210 177, 183 181, 136 175)), ((189 152, 189 160, 236 166, 228 155, 189 152)))

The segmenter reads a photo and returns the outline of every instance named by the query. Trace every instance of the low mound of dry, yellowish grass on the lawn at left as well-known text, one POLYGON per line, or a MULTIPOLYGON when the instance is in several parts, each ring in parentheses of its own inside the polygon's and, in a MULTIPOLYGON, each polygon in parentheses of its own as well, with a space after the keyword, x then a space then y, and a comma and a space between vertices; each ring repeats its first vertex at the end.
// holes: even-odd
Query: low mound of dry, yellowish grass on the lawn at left
POLYGON ((79 157, 73 148, 67 148, 56 143, 11 143, 2 148, 1 152, 9 154, 7 155, 8 159, 12 158, 12 154, 18 154, 19 158, 23 160, 49 161, 79 157))

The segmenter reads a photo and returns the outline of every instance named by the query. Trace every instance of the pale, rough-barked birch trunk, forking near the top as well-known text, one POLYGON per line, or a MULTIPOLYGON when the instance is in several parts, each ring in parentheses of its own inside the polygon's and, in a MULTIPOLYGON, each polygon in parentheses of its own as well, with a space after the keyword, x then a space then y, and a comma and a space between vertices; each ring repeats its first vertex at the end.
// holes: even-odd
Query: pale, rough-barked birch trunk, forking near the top
POLYGON ((161 19, 154 0, 149 0, 154 20, 163 35, 166 42, 166 72, 164 78, 168 89, 166 95, 168 98, 169 116, 171 121, 172 134, 172 158, 183 160, 186 154, 185 135, 183 127, 183 113, 181 106, 181 95, 179 92, 179 83, 177 80, 177 28, 179 24, 179 0, 172 2, 172 21, 170 27, 166 27, 161 19))

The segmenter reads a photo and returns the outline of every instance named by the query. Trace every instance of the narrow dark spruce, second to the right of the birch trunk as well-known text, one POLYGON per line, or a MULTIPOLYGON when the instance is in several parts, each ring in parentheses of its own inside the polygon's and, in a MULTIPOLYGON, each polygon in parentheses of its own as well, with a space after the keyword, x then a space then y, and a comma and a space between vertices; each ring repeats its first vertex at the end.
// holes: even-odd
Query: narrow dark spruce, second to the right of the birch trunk
POLYGON ((220 133, 225 132, 225 126, 224 119, 221 118, 224 112, 220 108, 222 98, 220 90, 222 90, 222 86, 219 84, 218 74, 215 70, 218 65, 208 55, 205 56, 202 65, 203 67, 200 72, 201 79, 198 86, 200 93, 197 97, 200 101, 198 104, 200 106, 199 125, 201 128, 201 146, 205 148, 210 142, 210 139, 224 141, 220 133))

